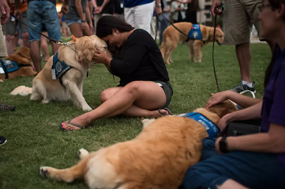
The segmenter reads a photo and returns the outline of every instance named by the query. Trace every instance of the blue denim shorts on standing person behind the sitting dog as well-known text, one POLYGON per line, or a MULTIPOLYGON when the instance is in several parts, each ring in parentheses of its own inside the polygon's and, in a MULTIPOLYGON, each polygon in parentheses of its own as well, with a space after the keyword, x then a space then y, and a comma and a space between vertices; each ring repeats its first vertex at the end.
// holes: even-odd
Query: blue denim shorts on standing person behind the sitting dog
MULTIPOLYGON (((29 1, 27 11, 28 24, 33 29, 42 33, 44 22, 48 36, 55 41, 61 41, 59 19, 54 3, 46 0, 29 1)), ((40 40, 41 35, 29 28, 29 41, 40 40)))

